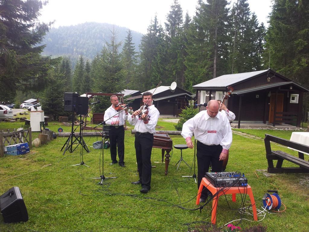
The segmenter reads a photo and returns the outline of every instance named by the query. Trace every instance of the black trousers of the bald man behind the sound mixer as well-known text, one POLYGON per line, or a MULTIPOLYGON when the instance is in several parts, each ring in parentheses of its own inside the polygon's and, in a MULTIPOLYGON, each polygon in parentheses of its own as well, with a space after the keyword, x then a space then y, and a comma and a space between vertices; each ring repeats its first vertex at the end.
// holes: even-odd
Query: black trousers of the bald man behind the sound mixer
MULTIPOLYGON (((210 161, 213 172, 222 171, 223 161, 219 161, 221 152, 221 145, 208 146, 197 141, 197 189, 200 187, 205 173, 209 170, 210 161)), ((207 189, 205 187, 202 190, 201 198, 207 198, 207 189)))

